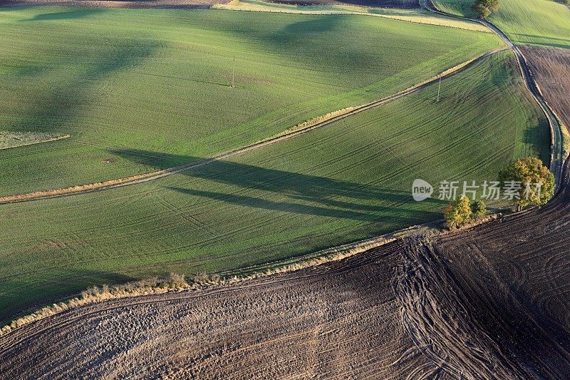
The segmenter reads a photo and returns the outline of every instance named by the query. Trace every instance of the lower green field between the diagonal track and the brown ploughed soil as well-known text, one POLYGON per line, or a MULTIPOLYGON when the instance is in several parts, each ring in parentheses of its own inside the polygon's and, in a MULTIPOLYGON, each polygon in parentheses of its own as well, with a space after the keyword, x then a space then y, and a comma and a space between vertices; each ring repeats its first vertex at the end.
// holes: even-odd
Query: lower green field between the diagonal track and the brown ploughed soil
MULTIPOLYGON (((509 51, 441 83, 276 145, 148 183, 2 205, 0 319, 91 284, 217 272, 441 217, 423 178, 494 180, 547 163, 549 130, 509 51)), ((123 150, 138 165, 194 160, 123 150)))

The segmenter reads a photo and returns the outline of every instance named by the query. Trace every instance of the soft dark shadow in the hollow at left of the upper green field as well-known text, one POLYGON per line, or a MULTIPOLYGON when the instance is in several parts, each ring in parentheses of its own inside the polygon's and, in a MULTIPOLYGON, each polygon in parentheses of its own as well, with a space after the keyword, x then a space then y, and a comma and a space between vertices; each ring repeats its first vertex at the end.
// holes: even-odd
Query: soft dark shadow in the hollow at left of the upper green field
POLYGON ((53 61, 51 66, 26 66, 6 78, 6 86, 22 88, 21 83, 45 81, 48 76, 63 74, 56 83, 38 86, 30 91, 28 107, 20 112, 21 117, 4 125, 6 130, 30 132, 71 132, 66 125, 78 118, 93 101, 90 92, 93 84, 125 68, 138 66, 160 48, 157 41, 142 41, 135 38, 113 39, 101 44, 98 38, 88 38, 86 43, 98 46, 96 53, 87 49, 86 56, 77 52, 64 61, 53 61))

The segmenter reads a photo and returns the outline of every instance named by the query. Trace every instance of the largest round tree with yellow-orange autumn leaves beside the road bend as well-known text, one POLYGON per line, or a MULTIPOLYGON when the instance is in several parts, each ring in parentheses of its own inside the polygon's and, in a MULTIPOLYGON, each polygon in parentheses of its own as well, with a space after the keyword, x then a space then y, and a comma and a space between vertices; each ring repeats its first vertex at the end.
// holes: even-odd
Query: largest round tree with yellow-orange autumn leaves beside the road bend
POLYGON ((503 195, 507 185, 520 186, 514 196, 514 204, 520 207, 544 205, 554 195, 554 174, 539 158, 516 160, 499 173, 503 195))

